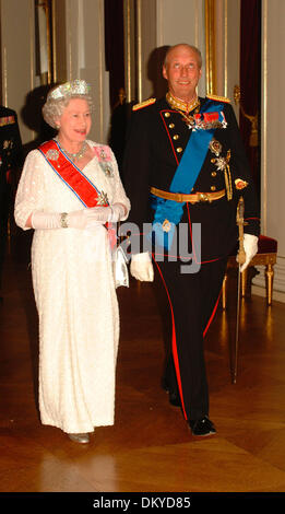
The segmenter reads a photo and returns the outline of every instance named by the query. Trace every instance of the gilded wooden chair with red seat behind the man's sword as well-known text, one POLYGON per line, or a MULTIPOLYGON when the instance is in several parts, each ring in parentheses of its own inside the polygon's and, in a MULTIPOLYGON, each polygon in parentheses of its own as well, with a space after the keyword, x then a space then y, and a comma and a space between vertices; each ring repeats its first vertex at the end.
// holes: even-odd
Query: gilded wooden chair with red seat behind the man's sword
MULTIPOLYGON (((236 261, 237 252, 235 250, 227 261, 227 270, 230 268, 238 268, 236 261)), ((248 268, 242 271, 240 277, 240 294, 246 296, 247 287, 248 287, 248 270, 253 266, 265 266, 265 285, 266 285, 266 303, 268 305, 272 304, 272 292, 273 292, 273 278, 274 278, 274 265, 277 257, 277 241, 265 235, 259 236, 258 242, 258 253, 250 261, 248 268)), ((222 290, 222 302, 223 308, 226 308, 227 302, 227 273, 225 274, 222 290)))

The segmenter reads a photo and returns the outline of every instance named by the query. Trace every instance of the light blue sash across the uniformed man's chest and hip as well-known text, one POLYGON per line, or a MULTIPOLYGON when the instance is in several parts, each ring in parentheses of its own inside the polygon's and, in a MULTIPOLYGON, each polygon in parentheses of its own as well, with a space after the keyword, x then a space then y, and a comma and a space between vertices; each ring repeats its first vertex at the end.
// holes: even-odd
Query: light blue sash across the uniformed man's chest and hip
MULTIPOLYGON (((218 121, 224 120, 222 110, 224 105, 207 101, 200 114, 203 113, 218 113, 218 121)), ((205 156, 209 151, 210 141, 213 138, 216 128, 210 129, 195 129, 189 138, 188 144, 185 149, 182 159, 176 170, 175 176, 169 187, 170 192, 190 194, 199 173, 203 166, 205 156)), ((158 246, 164 246, 169 249, 173 243, 175 227, 180 222, 183 214, 183 206, 186 202, 177 202, 174 200, 164 200, 154 195, 151 195, 151 205, 155 211, 153 230, 147 237, 152 237, 158 246), (167 232, 163 229, 164 221, 167 220, 169 230, 167 232)))

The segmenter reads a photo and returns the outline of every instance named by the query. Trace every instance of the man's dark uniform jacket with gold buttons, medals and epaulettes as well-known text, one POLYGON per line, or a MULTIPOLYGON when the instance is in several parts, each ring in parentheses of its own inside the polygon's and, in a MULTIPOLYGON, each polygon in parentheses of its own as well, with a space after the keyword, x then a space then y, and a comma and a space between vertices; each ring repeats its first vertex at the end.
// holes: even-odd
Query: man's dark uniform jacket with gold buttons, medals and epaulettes
MULTIPOLYGON (((201 107, 206 98, 200 98, 201 107)), ((214 102, 214 101, 213 101, 214 102)), ((213 138, 218 152, 209 148, 191 192, 227 189, 212 202, 187 203, 181 222, 201 223, 201 261, 227 256, 237 243, 236 211, 240 195, 245 200, 245 232, 259 235, 259 209, 254 186, 233 107, 223 103, 226 128, 216 128, 213 138), (225 166, 228 164, 228 167, 225 166), (227 170, 225 174, 225 168, 227 170)), ((221 100, 216 105, 221 105, 221 100)), ((142 104, 132 113, 124 153, 123 178, 131 200, 128 222, 152 222, 150 189, 168 191, 192 130, 166 98, 142 104)), ((180 191, 189 192, 189 191, 180 191)), ((191 249, 191 248, 190 248, 191 249)))

